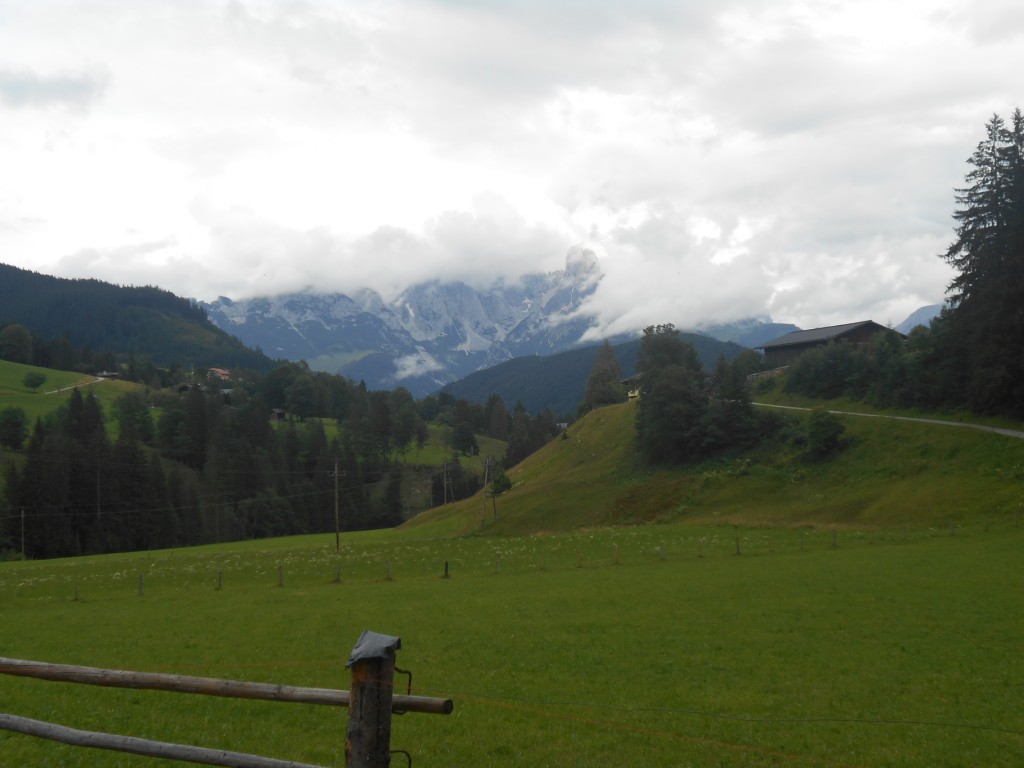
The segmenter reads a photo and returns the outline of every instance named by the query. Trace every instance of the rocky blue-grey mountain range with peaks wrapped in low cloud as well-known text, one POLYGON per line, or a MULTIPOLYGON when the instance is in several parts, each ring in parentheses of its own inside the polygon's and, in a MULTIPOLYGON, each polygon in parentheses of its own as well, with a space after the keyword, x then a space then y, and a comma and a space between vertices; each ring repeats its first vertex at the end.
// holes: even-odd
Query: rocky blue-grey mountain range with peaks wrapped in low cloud
MULTIPOLYGON (((594 253, 574 248, 562 269, 483 289, 433 281, 390 301, 362 289, 220 297, 202 306, 219 328, 271 357, 303 359, 314 371, 361 380, 371 389, 403 386, 420 397, 513 358, 586 346, 582 339, 596 323, 584 305, 601 280, 594 253)), ((691 330, 755 347, 799 329, 751 318, 691 330)))

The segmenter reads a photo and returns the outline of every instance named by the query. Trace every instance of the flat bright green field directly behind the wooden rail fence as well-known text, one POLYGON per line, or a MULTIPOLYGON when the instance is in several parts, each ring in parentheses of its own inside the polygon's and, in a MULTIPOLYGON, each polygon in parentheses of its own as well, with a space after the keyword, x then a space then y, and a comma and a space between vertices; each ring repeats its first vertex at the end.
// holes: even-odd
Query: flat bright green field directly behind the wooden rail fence
MULTIPOLYGON (((395 719, 392 746, 417 765, 1021 764, 1024 528, 833 536, 378 531, 346 537, 340 558, 307 537, 0 563, 0 654, 347 688, 359 633, 398 635, 414 692, 456 702, 395 719)), ((74 727, 344 763, 345 714, 326 708, 0 690, 5 712, 74 727)), ((4 733, 0 755, 172 765, 4 733)))

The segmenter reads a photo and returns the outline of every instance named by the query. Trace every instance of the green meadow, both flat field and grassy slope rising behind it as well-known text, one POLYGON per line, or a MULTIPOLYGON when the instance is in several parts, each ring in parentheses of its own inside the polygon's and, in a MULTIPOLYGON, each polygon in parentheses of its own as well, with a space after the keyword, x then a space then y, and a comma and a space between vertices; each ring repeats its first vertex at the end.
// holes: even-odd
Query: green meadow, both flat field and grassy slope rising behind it
MULTIPOLYGON (((5 402, 52 402, 22 377, 5 402)), ((397 635, 413 692, 455 701, 394 719, 419 766, 1024 764, 1024 440, 842 417, 827 460, 783 441, 652 469, 633 419, 600 409, 510 492, 343 534, 340 553, 328 535, 2 562, 0 655, 347 688, 359 634, 397 635)), ((408 461, 436 463, 442 438, 408 461)), ((2 676, 0 700, 344 764, 329 708, 2 676)), ((0 731, 0 765, 178 763, 0 731)))

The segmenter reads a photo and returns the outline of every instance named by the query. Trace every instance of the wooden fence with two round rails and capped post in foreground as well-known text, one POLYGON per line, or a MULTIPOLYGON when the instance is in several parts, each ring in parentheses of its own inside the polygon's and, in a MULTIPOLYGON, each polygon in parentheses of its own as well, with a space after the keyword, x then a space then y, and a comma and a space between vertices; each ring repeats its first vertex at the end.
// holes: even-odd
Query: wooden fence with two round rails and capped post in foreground
MULTIPOLYGON (((116 688, 144 688, 209 696, 346 707, 349 715, 345 739, 345 764, 358 768, 385 768, 390 762, 391 755, 392 714, 420 712, 447 715, 454 709, 450 698, 394 693, 395 652, 400 647, 401 640, 397 637, 364 632, 346 665, 352 673, 350 691, 152 672, 101 670, 93 667, 2 657, 0 657, 0 674, 116 688)), ((114 750, 202 765, 219 765, 227 768, 323 768, 308 763, 276 760, 259 755, 154 741, 114 733, 83 731, 16 715, 0 714, 0 729, 76 746, 114 750)))

